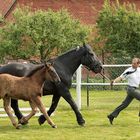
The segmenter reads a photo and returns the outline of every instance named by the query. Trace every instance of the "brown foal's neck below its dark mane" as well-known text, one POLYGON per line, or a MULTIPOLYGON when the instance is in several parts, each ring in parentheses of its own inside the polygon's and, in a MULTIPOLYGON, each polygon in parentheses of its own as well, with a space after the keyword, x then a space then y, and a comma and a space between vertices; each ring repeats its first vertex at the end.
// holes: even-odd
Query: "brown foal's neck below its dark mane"
POLYGON ((36 73, 34 73, 31 76, 31 79, 38 83, 38 85, 42 86, 42 84, 45 81, 45 70, 46 68, 42 68, 41 70, 38 70, 36 73))

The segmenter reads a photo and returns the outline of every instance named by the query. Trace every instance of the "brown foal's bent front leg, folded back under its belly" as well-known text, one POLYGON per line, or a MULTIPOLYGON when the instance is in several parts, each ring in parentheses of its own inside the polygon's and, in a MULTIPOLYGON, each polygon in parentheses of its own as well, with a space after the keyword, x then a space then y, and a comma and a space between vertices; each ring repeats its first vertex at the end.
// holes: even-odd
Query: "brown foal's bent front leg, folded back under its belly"
POLYGON ((30 103, 30 106, 32 108, 32 111, 31 111, 31 113, 29 115, 22 117, 19 120, 19 123, 26 123, 26 122, 28 122, 29 119, 36 114, 37 106, 32 101, 29 101, 29 103, 30 103))

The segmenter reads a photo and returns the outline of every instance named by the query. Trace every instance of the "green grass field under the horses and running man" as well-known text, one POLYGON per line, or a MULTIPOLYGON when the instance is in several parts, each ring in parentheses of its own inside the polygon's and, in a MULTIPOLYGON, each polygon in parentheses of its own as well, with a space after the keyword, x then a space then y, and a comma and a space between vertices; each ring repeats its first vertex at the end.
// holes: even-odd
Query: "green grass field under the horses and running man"
MULTIPOLYGON (((71 92, 75 99, 75 90, 71 92)), ((39 126, 37 117, 33 117, 28 125, 16 130, 9 118, 0 118, 0 140, 139 140, 140 102, 134 100, 115 119, 114 125, 110 125, 106 117, 121 103, 125 95, 125 91, 91 91, 90 106, 87 107, 86 91, 83 90, 81 113, 86 120, 84 127, 77 124, 75 114, 64 99, 60 100, 54 116, 51 117, 57 124, 57 129, 51 128, 47 122, 39 126)), ((43 97, 43 102, 49 106, 51 96, 43 97)), ((28 106, 28 103, 20 101, 20 106, 28 106)))

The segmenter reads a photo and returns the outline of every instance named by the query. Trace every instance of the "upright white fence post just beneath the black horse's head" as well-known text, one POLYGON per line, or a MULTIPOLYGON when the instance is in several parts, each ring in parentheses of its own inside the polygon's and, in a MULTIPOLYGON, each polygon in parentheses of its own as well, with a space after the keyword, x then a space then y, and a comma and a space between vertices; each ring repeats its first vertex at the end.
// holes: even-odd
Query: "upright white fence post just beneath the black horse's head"
POLYGON ((78 106, 78 109, 81 109, 81 65, 76 71, 76 93, 77 93, 77 98, 76 98, 76 103, 78 106))

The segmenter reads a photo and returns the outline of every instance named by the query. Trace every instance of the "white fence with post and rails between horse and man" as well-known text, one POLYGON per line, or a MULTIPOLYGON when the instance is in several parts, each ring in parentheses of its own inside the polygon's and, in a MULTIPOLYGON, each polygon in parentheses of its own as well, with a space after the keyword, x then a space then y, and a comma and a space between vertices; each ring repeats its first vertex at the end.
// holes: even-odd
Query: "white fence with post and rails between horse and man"
MULTIPOLYGON (((108 67, 130 67, 131 65, 130 64, 120 64, 120 65, 103 65, 103 68, 108 68, 108 67)), ((106 85, 110 85, 110 83, 82 83, 81 82, 81 78, 82 78, 82 75, 81 75, 81 68, 82 66, 80 65, 79 68, 77 69, 76 71, 76 83, 73 83, 73 85, 76 85, 76 94, 77 94, 77 97, 76 97, 76 103, 77 103, 77 106, 78 106, 78 109, 80 110, 81 109, 81 86, 82 85, 91 85, 91 86, 106 86, 106 85)), ((121 74, 121 73, 120 73, 121 74)), ((127 85, 127 83, 115 83, 115 85, 127 85)))

